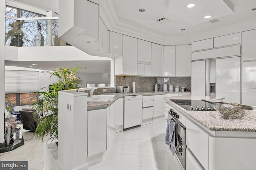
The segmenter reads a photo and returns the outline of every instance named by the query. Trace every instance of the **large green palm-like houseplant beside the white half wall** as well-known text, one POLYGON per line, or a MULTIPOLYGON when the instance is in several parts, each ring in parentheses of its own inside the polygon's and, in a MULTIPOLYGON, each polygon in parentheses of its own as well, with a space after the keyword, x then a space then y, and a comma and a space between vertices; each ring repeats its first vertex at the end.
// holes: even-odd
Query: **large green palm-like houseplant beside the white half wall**
POLYGON ((45 74, 50 74, 50 77, 56 76, 58 81, 37 92, 38 101, 30 104, 33 109, 36 109, 35 114, 44 113, 42 120, 34 132, 34 135, 40 137, 42 142, 44 142, 44 137, 47 135, 58 139, 58 91, 79 88, 78 86, 83 81, 76 74, 83 68, 66 68, 65 66, 64 68, 57 68, 54 71, 44 71, 45 74))

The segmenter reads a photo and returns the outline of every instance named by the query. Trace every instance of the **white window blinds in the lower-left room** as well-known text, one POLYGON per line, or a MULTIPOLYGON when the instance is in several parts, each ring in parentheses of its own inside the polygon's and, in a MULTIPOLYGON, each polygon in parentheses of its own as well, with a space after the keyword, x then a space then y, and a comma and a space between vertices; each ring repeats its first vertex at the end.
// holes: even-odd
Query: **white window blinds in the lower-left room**
POLYGON ((39 71, 5 70, 5 93, 39 91, 39 71))

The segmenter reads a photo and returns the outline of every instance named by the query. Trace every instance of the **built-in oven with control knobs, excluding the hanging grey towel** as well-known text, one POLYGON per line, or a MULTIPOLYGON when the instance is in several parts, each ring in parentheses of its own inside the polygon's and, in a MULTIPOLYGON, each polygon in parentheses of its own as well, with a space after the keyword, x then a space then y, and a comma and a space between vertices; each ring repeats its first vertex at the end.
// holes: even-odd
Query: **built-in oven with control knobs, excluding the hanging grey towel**
POLYGON ((175 122, 175 148, 176 154, 183 169, 186 169, 186 127, 179 121, 180 115, 178 111, 170 109, 168 112, 167 120, 172 119, 175 122))

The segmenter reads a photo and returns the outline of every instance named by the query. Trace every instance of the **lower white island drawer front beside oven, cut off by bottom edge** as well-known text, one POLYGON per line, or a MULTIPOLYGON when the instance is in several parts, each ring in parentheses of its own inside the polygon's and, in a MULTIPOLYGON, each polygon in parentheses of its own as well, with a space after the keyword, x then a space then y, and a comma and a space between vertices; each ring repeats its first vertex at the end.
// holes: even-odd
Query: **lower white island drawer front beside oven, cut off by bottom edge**
POLYGON ((186 170, 204 170, 189 149, 186 149, 186 170))

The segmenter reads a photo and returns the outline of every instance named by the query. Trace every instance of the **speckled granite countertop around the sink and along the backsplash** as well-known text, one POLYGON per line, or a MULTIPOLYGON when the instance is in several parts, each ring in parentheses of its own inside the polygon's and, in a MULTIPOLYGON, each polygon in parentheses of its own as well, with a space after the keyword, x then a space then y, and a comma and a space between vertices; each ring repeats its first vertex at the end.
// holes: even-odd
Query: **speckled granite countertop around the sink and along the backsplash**
POLYGON ((150 96, 150 95, 161 95, 161 94, 191 94, 191 92, 164 92, 164 91, 149 91, 149 92, 135 92, 135 93, 106 93, 105 95, 116 95, 116 97, 112 98, 107 102, 87 102, 87 110, 95 110, 95 109, 104 109, 112 104, 118 98, 123 98, 124 96, 134 96, 134 95, 142 95, 142 96, 150 96))

